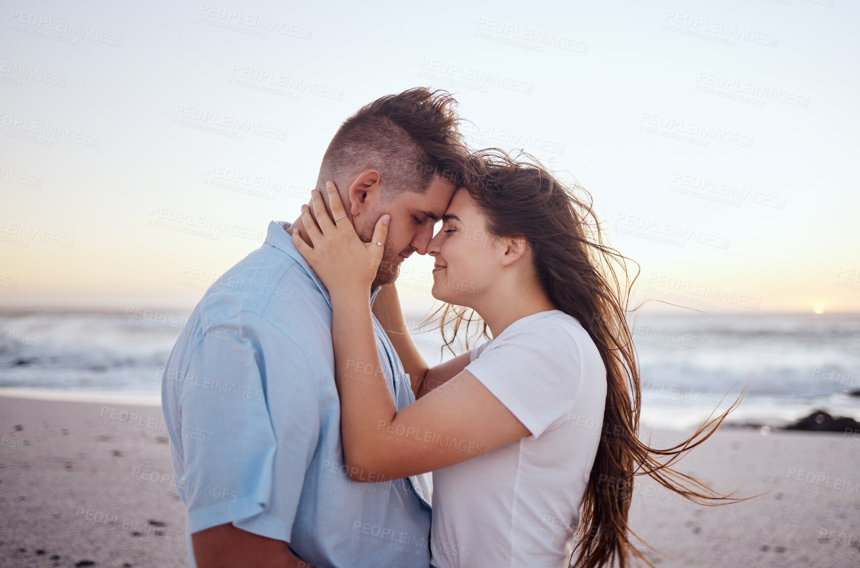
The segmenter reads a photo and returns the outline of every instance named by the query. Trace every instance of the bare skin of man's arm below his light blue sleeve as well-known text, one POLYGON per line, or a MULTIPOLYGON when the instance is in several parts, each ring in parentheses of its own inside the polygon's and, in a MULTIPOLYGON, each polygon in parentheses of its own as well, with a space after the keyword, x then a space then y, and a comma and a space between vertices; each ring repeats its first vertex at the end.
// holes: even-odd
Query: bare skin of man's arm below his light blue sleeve
POLYGON ((191 535, 198 568, 307 568, 283 540, 268 539, 229 522, 191 535))

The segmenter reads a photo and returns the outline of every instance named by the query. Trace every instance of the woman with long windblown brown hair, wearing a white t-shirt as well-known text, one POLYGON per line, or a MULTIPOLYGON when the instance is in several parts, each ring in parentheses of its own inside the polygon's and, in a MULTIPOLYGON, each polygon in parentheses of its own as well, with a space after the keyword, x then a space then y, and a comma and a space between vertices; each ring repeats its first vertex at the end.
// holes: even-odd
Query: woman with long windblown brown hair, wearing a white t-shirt
POLYGON ((654 458, 677 459, 726 414, 673 448, 643 444, 626 296, 611 267, 624 257, 601 244, 591 208, 542 168, 494 153, 474 167, 427 252, 433 297, 449 305, 443 327, 451 305, 461 306, 456 336, 470 308, 493 339, 428 368, 402 333, 393 287, 380 292, 373 312, 415 392, 400 412, 382 378, 370 306, 387 216, 363 243, 332 184, 331 217, 313 197, 318 227, 303 206, 313 247, 298 234, 293 242, 329 289, 347 465, 357 478, 433 472, 436 568, 558 567, 574 554, 587 567, 644 559, 626 523, 634 474, 685 497, 735 500, 654 458))

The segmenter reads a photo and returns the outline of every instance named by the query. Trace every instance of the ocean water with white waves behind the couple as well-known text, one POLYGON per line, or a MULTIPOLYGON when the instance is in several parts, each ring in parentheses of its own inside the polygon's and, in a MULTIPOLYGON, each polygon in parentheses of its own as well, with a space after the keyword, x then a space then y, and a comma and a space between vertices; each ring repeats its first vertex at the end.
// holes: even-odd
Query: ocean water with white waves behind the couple
MULTIPOLYGON (((157 395, 187 312, 0 311, 0 387, 157 395)), ((418 318, 413 318, 415 321, 418 318)), ((642 423, 779 425, 823 409, 860 419, 860 314, 641 314, 630 319, 642 371, 642 423)), ((415 335, 428 362, 439 331, 415 335)))

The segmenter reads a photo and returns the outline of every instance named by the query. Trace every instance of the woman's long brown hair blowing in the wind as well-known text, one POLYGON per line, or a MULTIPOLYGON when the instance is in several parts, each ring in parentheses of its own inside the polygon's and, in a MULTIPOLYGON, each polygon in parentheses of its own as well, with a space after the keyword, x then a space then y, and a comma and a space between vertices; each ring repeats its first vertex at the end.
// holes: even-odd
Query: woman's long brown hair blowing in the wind
MULTIPOLYGON (((606 368, 599 447, 569 560, 581 568, 615 564, 624 568, 633 555, 651 565, 633 546, 631 537, 642 540, 627 524, 635 476, 648 475, 694 503, 713 506, 743 500, 719 494, 670 467, 716 431, 740 404, 743 392, 722 415, 713 417, 712 412, 693 435, 672 448, 650 448, 639 439, 642 386, 626 319, 638 264, 634 262, 636 275, 630 279, 625 262, 630 259, 605 244, 591 195, 576 184, 565 187, 537 160, 529 158, 530 162, 515 160, 498 149, 477 152, 473 177, 465 188, 484 214, 488 233, 496 238, 525 236, 544 290, 559 310, 576 318, 587 330, 606 368)), ((442 306, 425 324, 431 321, 439 321, 445 347, 451 353, 451 344, 463 327, 466 349, 470 336, 489 338, 487 325, 464 306, 442 306)))

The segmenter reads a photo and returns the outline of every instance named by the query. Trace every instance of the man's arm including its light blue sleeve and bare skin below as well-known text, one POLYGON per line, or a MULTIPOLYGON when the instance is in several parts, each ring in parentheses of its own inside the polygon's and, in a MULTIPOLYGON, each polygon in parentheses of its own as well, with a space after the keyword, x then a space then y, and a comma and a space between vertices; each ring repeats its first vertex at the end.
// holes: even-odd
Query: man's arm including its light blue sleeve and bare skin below
POLYGON ((289 338, 258 318, 240 312, 207 329, 169 391, 178 398, 168 419, 181 448, 177 489, 201 568, 296 565, 285 564, 284 540, 319 435, 315 381, 289 338), (277 389, 266 390, 264 372, 277 389), (289 433, 288 443, 279 447, 275 428, 289 433))

